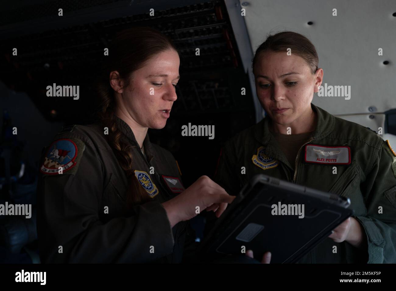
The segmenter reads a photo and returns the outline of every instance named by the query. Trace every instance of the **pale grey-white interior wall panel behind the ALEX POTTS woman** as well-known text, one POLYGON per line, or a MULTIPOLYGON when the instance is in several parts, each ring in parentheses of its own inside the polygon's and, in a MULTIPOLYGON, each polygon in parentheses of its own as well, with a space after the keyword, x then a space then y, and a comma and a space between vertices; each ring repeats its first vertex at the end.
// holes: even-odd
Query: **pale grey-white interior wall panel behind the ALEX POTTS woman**
MULTIPOLYGON (((240 17, 253 53, 270 32, 298 32, 316 47, 319 67, 324 70, 323 85, 350 86, 349 100, 315 93, 312 103, 375 131, 383 127, 381 113, 396 108, 394 0, 226 0, 226 4, 239 13, 246 9, 246 16, 240 17), (333 9, 337 9, 337 16, 333 16, 333 9), (379 48, 383 49, 382 56, 378 55, 379 48), (383 64, 385 60, 388 65, 383 64), (375 110, 370 111, 370 107, 375 110)), ((230 13, 230 18, 236 23, 234 14, 230 13)), ((236 37, 238 42, 240 36, 236 37)), ((396 138, 392 143, 396 146, 396 138)))

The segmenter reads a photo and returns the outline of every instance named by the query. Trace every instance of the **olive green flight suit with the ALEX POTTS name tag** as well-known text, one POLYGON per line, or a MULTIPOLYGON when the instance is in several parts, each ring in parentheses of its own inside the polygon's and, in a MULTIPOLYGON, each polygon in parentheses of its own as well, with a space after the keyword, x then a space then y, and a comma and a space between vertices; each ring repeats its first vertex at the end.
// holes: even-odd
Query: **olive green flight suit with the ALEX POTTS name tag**
MULTIPOLYGON (((381 136, 356 123, 334 117, 311 104, 317 113, 313 138, 301 146, 290 164, 268 130, 267 116, 240 132, 222 150, 215 181, 236 195, 256 174, 266 174, 350 198, 353 217, 364 227, 367 249, 326 238, 299 263, 396 263, 396 155, 381 136), (310 146, 310 145, 316 146, 310 146), (306 151, 322 151, 318 162, 306 151), (349 147, 350 161, 336 164, 338 151, 349 147), (257 163, 257 156, 261 160, 257 163), (326 156, 327 155, 327 156, 326 156), (329 156, 334 160, 328 159, 329 156), (327 164, 321 161, 330 161, 327 164), (243 168, 246 168, 246 174, 243 168), (333 174, 337 167, 337 174, 333 174), (337 246, 337 253, 333 253, 337 246)), ((318 154, 320 155, 320 154, 318 154)), ((348 157, 345 155, 345 159, 348 157)), ((344 160, 345 160, 344 159, 344 160)), ((345 161, 344 161, 345 162, 345 161)), ((292 243, 292 241, 291 241, 292 243)), ((271 251, 268 249, 267 251, 271 251)))

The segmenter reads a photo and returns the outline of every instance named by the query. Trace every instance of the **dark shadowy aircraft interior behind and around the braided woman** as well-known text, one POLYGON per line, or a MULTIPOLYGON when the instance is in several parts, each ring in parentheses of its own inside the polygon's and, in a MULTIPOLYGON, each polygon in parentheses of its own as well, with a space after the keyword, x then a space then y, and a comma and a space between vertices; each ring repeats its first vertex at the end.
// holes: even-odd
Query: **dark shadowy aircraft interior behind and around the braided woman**
MULTIPOLYGON (((166 127, 150 129, 149 135, 173 153, 185 187, 199 176, 213 177, 224 142, 255 123, 249 80, 223 1, 38 0, 4 3, 1 9, 0 203, 35 204, 42 147, 63 125, 95 121, 99 98, 93 83, 103 49, 117 32, 131 26, 160 30, 179 50, 178 100, 166 127), (63 16, 58 16, 59 8, 63 16), (17 56, 12 55, 14 47, 17 56), (200 56, 195 55, 196 47, 200 56), (46 87, 53 83, 79 85, 80 98, 47 97, 46 87), (241 95, 242 87, 246 95, 241 95), (215 138, 181 136, 181 126, 188 123, 214 125, 215 138), (17 127, 17 135, 12 127, 17 127), (25 171, 19 178, 21 164, 25 171)), ((18 234, 29 219, 2 219, 0 262, 34 261, 34 236, 18 234), (7 241, 10 232, 15 235, 7 241)), ((193 223, 200 232, 202 221, 193 223)))

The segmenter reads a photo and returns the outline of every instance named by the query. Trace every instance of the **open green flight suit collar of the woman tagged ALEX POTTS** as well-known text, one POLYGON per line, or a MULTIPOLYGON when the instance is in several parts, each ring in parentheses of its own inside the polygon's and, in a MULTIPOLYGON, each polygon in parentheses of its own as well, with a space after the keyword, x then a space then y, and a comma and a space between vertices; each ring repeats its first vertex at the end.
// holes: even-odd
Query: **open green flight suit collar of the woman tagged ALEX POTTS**
MULTIPOLYGON (((314 132, 312 132, 312 136, 314 140, 320 140, 333 131, 335 126, 335 117, 312 103, 311 108, 317 113, 316 128, 314 132)), ((257 126, 255 127, 254 135, 256 140, 266 146, 265 153, 267 155, 269 155, 270 157, 274 157, 275 159, 278 159, 285 164, 289 164, 286 156, 280 150, 278 142, 271 134, 269 126, 270 117, 267 115, 264 119, 257 123, 257 126)))

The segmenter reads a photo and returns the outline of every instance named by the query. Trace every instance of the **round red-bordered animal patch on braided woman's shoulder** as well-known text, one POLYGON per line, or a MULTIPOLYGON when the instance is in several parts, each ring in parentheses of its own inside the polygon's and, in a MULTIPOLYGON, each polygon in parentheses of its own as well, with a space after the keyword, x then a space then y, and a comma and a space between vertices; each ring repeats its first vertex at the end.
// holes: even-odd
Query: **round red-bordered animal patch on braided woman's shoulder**
POLYGON ((47 150, 40 172, 58 175, 62 167, 63 174, 76 174, 84 149, 84 142, 76 138, 55 140, 47 150))

